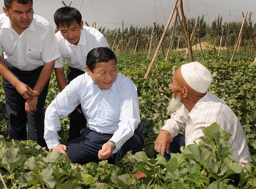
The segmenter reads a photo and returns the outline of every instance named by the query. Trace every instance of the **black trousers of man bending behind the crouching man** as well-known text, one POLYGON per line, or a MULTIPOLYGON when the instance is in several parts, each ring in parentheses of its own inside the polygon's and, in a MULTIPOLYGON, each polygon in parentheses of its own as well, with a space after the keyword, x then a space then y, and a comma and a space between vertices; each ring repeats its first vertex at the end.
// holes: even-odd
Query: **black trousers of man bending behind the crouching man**
MULTIPOLYGON (((84 71, 81 71, 76 68, 68 67, 67 75, 68 75, 68 83, 70 83, 74 78, 83 74, 84 71)), ((81 109, 81 104, 78 105, 81 109)), ((77 110, 74 110, 70 114, 70 128, 69 128, 69 138, 68 142, 81 137, 80 130, 86 128, 86 117, 84 117, 83 113, 79 113, 77 110)))

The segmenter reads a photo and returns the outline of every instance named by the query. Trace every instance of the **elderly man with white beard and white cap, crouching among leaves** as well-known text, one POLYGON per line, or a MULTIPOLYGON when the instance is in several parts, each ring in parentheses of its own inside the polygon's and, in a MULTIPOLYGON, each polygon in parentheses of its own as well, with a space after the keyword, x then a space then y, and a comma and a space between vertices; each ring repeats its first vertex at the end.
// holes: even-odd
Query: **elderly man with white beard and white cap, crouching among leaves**
POLYGON ((245 165, 251 161, 251 156, 241 123, 225 102, 207 92, 211 82, 210 72, 199 62, 190 62, 177 69, 170 84, 173 98, 168 106, 168 111, 174 113, 159 131, 155 150, 168 160, 167 154, 180 152, 181 146, 194 141, 205 142, 202 127, 217 122, 232 134, 230 158, 245 165), (185 131, 184 136, 179 133, 181 130, 185 131))

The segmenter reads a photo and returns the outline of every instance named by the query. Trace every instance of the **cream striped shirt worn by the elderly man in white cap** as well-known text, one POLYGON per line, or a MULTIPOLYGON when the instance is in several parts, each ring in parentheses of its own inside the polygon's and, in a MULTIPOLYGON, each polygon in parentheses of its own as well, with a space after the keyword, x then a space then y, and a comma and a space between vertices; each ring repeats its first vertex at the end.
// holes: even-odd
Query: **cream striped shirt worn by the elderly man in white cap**
POLYGON ((185 130, 185 145, 187 146, 193 144, 194 141, 196 143, 199 141, 206 143, 201 128, 214 122, 217 122, 223 130, 232 134, 229 142, 233 154, 230 155, 230 158, 243 165, 251 161, 245 134, 237 116, 225 102, 208 92, 195 104, 190 112, 182 105, 178 111, 170 116, 161 130, 169 131, 171 139, 177 136, 181 129, 185 130))

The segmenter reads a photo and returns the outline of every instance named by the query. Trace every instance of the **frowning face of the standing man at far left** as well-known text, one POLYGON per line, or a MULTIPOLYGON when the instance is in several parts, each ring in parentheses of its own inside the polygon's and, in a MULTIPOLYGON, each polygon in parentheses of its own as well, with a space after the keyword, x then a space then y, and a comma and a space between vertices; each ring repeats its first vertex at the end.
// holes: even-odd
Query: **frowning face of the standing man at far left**
POLYGON ((11 4, 10 9, 7 10, 6 7, 3 7, 3 10, 6 16, 9 17, 12 23, 12 28, 19 35, 29 27, 33 20, 33 4, 31 1, 25 5, 14 1, 11 4))

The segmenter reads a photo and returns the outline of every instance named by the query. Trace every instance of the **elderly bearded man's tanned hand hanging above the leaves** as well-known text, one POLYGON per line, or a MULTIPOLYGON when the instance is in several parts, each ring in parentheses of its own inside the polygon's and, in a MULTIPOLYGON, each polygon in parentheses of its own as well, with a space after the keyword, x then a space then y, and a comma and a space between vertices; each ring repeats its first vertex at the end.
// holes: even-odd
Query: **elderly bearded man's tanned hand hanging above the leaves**
POLYGON ((169 153, 169 148, 170 134, 167 130, 160 130, 155 142, 155 150, 163 156, 164 152, 169 153))

